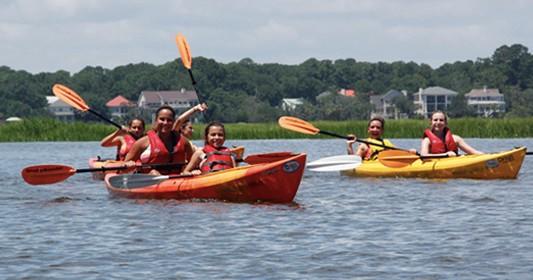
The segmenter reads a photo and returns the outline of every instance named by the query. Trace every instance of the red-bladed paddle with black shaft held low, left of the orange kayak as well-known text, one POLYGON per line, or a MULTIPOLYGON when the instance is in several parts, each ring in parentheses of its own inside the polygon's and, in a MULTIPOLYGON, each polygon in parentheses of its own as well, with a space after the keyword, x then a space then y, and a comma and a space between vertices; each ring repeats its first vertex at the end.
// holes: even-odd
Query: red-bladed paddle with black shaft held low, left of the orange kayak
MULTIPOLYGON (((176 166, 184 165, 184 163, 172 163, 172 164, 142 164, 137 165, 137 168, 146 167, 163 167, 163 166, 176 166)), ((115 167, 100 167, 100 168, 84 168, 76 169, 72 166, 62 164, 41 164, 28 166, 22 169, 21 175, 24 181, 30 185, 47 185, 62 182, 76 173, 85 172, 105 172, 111 170, 125 170, 126 166, 115 167)))

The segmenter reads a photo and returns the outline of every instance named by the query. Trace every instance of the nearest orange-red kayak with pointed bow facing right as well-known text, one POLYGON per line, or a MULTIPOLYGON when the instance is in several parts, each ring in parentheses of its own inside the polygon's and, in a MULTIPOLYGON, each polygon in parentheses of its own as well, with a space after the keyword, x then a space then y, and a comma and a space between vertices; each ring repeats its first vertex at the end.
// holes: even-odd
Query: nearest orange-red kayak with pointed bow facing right
POLYGON ((216 199, 231 202, 291 202, 302 180, 306 154, 267 163, 183 177, 109 174, 111 195, 134 199, 216 199))

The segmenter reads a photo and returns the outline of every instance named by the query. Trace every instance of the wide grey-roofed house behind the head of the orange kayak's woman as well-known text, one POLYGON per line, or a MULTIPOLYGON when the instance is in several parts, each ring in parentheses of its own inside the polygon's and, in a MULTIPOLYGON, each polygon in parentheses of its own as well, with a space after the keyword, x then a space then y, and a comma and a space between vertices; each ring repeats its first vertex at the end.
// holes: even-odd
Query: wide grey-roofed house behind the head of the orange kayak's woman
POLYGON ((195 91, 182 88, 181 90, 142 91, 137 106, 142 112, 151 114, 153 121, 155 111, 162 105, 172 107, 179 115, 198 103, 198 95, 195 91))

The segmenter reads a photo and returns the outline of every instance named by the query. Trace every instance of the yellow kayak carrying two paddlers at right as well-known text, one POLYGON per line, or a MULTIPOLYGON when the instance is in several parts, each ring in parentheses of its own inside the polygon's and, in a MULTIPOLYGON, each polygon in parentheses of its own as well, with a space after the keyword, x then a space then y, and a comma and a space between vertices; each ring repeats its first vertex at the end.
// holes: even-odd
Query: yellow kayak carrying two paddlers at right
POLYGON ((526 148, 483 155, 446 158, 390 157, 387 160, 364 161, 343 175, 362 177, 419 177, 515 179, 526 155, 526 148))

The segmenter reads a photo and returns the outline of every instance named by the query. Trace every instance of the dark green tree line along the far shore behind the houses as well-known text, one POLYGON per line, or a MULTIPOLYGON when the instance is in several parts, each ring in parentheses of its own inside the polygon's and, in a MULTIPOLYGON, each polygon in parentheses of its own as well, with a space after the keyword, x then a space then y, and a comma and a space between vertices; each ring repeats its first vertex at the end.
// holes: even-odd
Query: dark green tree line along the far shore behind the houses
MULTIPOLYGON (((291 112, 309 120, 366 119, 371 112, 370 96, 391 89, 408 95, 395 100, 404 113, 412 114, 412 94, 419 88, 441 86, 459 95, 449 114, 471 116, 464 94, 473 88, 498 88, 505 96, 507 112, 502 117, 533 115, 533 56, 528 48, 504 45, 488 58, 446 63, 433 69, 415 62, 361 62, 352 58, 317 60, 299 65, 259 64, 250 58, 219 63, 195 57, 192 71, 201 100, 210 109, 207 117, 223 122, 268 122, 287 114, 280 109, 283 98, 303 98, 304 104, 291 112), (341 88, 355 89, 356 97, 330 94, 341 88)), ((10 116, 50 116, 45 96, 55 83, 78 92, 98 112, 106 114, 105 103, 117 95, 136 101, 143 90, 191 89, 188 73, 179 59, 162 65, 128 64, 114 69, 87 66, 77 73, 57 71, 31 74, 0 67, 0 119, 10 116)), ((77 113, 80 120, 97 120, 77 113)))

